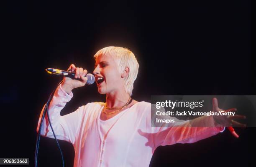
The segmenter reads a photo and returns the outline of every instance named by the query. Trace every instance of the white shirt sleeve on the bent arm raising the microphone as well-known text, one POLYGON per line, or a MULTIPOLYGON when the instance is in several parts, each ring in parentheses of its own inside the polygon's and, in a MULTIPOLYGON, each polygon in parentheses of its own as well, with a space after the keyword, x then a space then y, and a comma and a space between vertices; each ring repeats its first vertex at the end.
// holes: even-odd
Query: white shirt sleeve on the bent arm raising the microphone
MULTIPOLYGON (((61 116, 60 112, 65 107, 66 103, 71 100, 73 97, 72 92, 67 94, 62 88, 61 85, 59 85, 54 92, 54 96, 50 102, 50 105, 48 107, 49 112, 49 118, 51 121, 51 125, 53 127, 54 133, 56 135, 56 138, 59 140, 64 140, 67 142, 71 142, 74 144, 75 137, 77 134, 78 126, 80 123, 80 116, 81 113, 80 110, 83 110, 83 107, 79 107, 76 111, 61 116)), ((41 111, 38 126, 37 126, 37 132, 42 120, 42 115, 44 112, 45 105, 41 111)), ((41 127, 41 136, 54 138, 53 132, 51 130, 51 126, 49 125, 49 120, 47 117, 47 112, 45 114, 42 127, 41 127)))

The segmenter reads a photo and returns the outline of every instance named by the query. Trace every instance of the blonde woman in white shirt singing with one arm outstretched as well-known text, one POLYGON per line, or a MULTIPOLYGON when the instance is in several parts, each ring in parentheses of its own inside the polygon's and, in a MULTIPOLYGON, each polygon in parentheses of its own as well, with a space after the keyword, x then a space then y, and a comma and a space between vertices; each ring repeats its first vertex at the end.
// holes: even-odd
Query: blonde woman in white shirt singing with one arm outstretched
MULTIPOLYGON (((106 102, 91 102, 60 116, 73 97, 72 90, 87 82, 87 70, 70 65, 68 70, 75 72, 75 79, 64 77, 49 105, 57 139, 74 146, 74 167, 148 167, 158 146, 197 142, 225 129, 200 127, 202 121, 216 124, 218 118, 212 116, 197 119, 198 127, 188 127, 193 121, 184 121, 180 126, 151 127, 151 103, 131 97, 139 67, 133 52, 123 47, 105 47, 94 57, 93 74, 106 102)), ((213 100, 213 108, 218 110, 217 99, 213 100)), ((41 119, 42 113, 38 125, 41 119)), ((54 138, 47 116, 41 135, 54 138)))

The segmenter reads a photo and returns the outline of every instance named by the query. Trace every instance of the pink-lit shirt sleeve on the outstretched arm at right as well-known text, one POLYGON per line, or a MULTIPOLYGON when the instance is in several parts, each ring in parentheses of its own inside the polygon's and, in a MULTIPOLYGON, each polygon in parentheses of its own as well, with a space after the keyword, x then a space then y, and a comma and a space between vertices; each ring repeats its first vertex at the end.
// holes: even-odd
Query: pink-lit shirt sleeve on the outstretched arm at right
MULTIPOLYGON (((150 114, 149 114, 150 115, 150 114)), ((194 120, 178 120, 172 125, 163 123, 161 127, 151 127, 151 115, 147 118, 154 147, 176 143, 193 143, 223 132, 225 127, 215 126, 212 116, 198 117, 194 120), (150 120, 149 120, 150 119, 150 120)))

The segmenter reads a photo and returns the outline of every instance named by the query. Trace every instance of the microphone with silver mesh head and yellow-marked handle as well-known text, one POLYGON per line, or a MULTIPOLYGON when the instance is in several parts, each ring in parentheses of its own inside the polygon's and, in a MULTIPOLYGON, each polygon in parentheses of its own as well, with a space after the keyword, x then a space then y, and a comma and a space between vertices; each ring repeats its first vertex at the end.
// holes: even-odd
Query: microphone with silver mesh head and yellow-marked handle
MULTIPOLYGON (((65 71, 65 70, 59 70, 59 69, 55 69, 55 68, 46 68, 45 69, 46 70, 46 72, 48 72, 49 74, 54 74, 54 75, 62 75, 62 76, 64 76, 64 77, 70 77, 70 78, 72 78, 72 79, 75 79, 74 78, 74 76, 75 76, 75 72, 69 72, 69 71, 65 71)), ((95 81, 95 77, 94 77, 94 75, 92 75, 92 74, 87 74, 87 75, 85 75, 86 77, 87 77, 87 82, 86 82, 86 84, 87 85, 91 85, 91 84, 93 84, 94 83, 94 81, 95 81)))

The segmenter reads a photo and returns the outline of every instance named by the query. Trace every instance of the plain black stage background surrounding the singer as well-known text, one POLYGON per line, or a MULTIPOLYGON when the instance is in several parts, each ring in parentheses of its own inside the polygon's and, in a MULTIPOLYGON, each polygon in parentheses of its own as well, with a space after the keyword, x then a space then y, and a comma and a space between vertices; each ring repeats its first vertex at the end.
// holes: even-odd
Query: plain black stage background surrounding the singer
MULTIPOLYGON (((61 80, 44 69, 73 63, 92 72, 93 55, 106 46, 128 47, 136 55, 138 101, 150 102, 151 95, 255 95, 251 6, 247 0, 4 4, 0 157, 29 158, 33 166, 38 117, 61 80)), ((96 85, 73 93, 61 115, 105 101, 96 85)), ((236 131, 239 139, 225 130, 194 144, 159 147, 150 167, 255 166, 256 129, 236 131)), ((66 167, 72 167, 74 149, 60 143, 66 167)), ((39 149, 39 167, 61 166, 54 140, 42 137, 39 149)))

